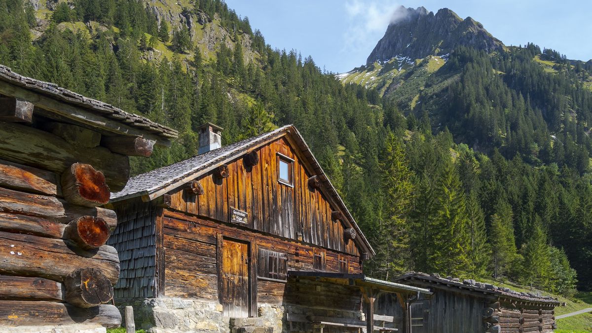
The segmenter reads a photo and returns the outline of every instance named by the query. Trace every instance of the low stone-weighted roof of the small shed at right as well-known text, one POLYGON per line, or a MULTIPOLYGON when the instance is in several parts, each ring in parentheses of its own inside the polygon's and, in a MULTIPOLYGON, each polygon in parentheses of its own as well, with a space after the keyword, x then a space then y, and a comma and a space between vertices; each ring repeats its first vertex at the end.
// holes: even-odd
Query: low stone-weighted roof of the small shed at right
POLYGON ((398 276, 395 278, 395 281, 403 284, 408 284, 412 281, 422 281, 424 284, 432 285, 433 289, 456 288, 459 290, 474 292, 475 294, 479 294, 481 296, 483 294, 490 294, 500 298, 506 297, 511 300, 518 300, 522 302, 545 303, 552 306, 559 305, 560 303, 558 300, 550 296, 542 296, 535 293, 515 292, 514 290, 506 287, 497 287, 493 284, 481 283, 470 279, 464 279, 461 281, 459 278, 443 278, 440 277, 439 274, 434 273, 426 274, 419 272, 409 272, 398 276))

